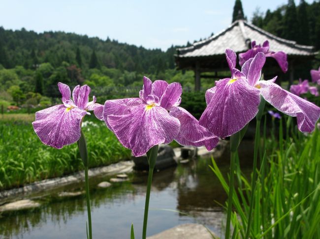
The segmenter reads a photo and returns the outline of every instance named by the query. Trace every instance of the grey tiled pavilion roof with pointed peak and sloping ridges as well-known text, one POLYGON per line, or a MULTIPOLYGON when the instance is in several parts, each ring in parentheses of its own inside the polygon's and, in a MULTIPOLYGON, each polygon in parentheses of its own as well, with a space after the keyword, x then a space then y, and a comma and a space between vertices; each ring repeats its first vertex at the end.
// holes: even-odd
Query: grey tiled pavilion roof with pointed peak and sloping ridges
POLYGON ((284 51, 288 56, 315 55, 312 46, 299 45, 295 41, 277 37, 244 20, 238 20, 216 35, 195 42, 191 47, 178 49, 176 58, 224 55, 226 48, 241 53, 250 49, 251 41, 262 44, 265 40, 269 41, 270 51, 284 51))

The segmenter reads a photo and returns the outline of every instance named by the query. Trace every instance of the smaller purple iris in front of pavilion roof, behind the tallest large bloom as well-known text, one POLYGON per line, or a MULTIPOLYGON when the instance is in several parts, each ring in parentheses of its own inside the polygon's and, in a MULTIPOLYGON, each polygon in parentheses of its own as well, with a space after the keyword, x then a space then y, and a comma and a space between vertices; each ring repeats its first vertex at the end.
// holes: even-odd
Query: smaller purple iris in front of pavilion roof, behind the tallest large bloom
POLYGON ((256 45, 256 41, 253 41, 251 43, 251 49, 248 50, 247 52, 245 53, 240 53, 239 54, 239 64, 240 66, 243 66, 243 64, 249 60, 250 58, 253 58, 255 57, 255 55, 257 53, 264 53, 266 57, 272 57, 274 58, 281 70, 286 73, 288 71, 288 60, 287 60, 287 54, 284 53, 284 52, 271 52, 269 51, 269 42, 268 41, 265 41, 263 42, 262 44, 262 47, 261 45, 256 45))

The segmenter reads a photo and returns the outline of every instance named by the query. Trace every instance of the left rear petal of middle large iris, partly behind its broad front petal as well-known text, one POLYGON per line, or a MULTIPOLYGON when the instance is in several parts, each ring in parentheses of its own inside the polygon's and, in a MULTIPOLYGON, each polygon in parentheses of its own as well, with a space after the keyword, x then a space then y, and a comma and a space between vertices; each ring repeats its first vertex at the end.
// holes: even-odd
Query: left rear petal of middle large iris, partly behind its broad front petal
POLYGON ((107 117, 108 115, 124 115, 130 113, 130 108, 132 106, 146 105, 144 100, 140 98, 127 98, 119 100, 108 100, 104 103, 103 106, 103 119, 107 127, 112 131, 107 117))

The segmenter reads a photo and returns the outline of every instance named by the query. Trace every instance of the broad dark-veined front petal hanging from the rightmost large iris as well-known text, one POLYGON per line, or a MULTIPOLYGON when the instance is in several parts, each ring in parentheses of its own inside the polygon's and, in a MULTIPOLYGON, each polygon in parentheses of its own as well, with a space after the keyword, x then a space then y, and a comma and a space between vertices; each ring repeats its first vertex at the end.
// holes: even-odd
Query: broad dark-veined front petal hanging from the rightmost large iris
POLYGON ((259 90, 245 79, 219 80, 216 92, 199 120, 214 135, 227 137, 240 131, 258 112, 259 90))

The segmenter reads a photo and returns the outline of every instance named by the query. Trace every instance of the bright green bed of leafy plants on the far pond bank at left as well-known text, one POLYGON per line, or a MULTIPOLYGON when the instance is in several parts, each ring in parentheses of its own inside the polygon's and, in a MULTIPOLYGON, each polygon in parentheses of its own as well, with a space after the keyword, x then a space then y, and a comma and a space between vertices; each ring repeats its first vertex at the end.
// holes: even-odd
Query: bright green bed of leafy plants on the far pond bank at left
MULTIPOLYGON (((77 144, 61 150, 42 144, 33 131, 33 117, 33 114, 0 116, 0 190, 83 170, 77 144)), ((128 159, 130 151, 104 122, 94 117, 86 116, 82 128, 87 138, 89 167, 128 159)))

